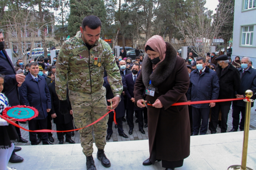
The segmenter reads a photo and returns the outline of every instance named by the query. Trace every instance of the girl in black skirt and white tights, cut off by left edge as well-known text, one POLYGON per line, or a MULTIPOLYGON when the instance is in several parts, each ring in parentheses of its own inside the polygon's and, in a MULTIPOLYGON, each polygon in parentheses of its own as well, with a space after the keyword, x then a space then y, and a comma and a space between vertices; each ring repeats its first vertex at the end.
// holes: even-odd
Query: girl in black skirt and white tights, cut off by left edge
MULTIPOLYGON (((0 114, 6 107, 9 107, 7 97, 1 93, 4 89, 4 76, 0 74, 0 114)), ((10 119, 15 123, 15 119, 10 119)), ((0 170, 14 170, 7 166, 14 150, 14 142, 18 142, 19 136, 14 125, 7 123, 6 120, 0 118, 0 170)))

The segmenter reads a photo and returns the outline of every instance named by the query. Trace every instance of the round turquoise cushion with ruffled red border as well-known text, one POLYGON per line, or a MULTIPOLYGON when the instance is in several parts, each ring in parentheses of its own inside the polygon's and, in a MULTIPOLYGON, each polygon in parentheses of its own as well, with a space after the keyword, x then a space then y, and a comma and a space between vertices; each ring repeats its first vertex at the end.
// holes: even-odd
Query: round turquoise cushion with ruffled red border
POLYGON ((27 121, 37 117, 38 111, 34 107, 18 105, 5 108, 3 116, 9 119, 15 118, 17 121, 27 121))

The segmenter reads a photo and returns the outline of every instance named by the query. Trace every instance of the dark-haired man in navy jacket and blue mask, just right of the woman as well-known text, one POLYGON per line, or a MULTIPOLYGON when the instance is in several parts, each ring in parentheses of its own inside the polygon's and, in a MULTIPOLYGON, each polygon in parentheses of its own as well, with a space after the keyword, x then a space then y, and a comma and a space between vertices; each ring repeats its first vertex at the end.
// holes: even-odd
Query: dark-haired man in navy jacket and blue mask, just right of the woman
MULTIPOLYGON (((196 59, 196 69, 190 73, 190 83, 187 92, 188 101, 217 100, 219 96, 219 79, 217 74, 206 67, 206 60, 202 57, 196 59)), ((205 135, 208 128, 210 108, 215 103, 193 104, 193 134, 205 135), (202 125, 200 122, 202 117, 202 125)))

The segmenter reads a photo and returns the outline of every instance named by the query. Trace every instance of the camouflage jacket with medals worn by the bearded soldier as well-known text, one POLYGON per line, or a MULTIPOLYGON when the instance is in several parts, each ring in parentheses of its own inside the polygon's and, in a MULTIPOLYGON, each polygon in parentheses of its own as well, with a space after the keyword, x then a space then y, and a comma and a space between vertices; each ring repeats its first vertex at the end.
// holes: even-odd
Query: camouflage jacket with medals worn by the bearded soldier
POLYGON ((104 82, 104 67, 113 94, 120 95, 123 91, 122 78, 109 44, 99 39, 89 51, 81 36, 79 31, 61 46, 55 73, 59 99, 66 100, 67 82, 69 90, 97 92, 104 82))

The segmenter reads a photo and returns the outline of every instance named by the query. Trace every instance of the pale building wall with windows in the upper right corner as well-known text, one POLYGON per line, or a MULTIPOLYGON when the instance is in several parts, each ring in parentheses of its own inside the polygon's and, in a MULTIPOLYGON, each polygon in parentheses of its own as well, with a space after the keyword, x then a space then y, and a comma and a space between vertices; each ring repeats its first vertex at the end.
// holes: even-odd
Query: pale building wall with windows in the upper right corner
POLYGON ((231 58, 234 60, 236 56, 250 57, 253 66, 256 68, 256 8, 242 12, 242 5, 244 0, 235 1, 234 10, 234 28, 233 28, 233 47, 231 58), (254 25, 253 28, 253 45, 255 47, 240 47, 241 30, 245 24, 254 25))

